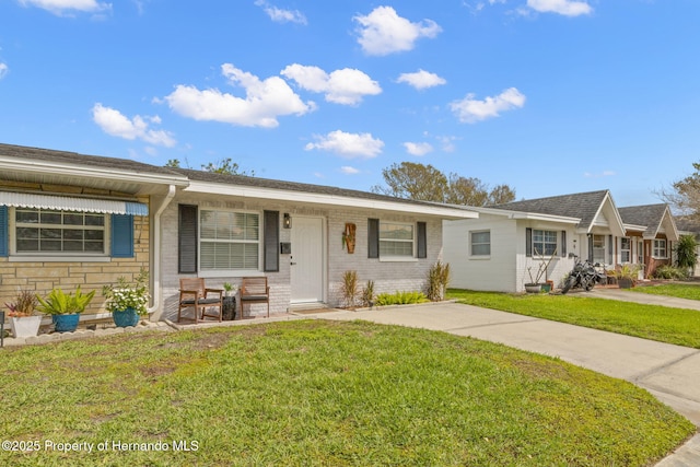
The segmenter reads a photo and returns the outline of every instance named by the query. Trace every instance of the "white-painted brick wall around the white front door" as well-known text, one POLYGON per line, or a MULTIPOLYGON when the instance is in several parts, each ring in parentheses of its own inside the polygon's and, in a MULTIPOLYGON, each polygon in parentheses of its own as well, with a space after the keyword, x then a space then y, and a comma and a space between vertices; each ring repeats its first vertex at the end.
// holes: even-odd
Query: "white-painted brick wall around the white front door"
MULTIPOLYGON (((438 218, 411 217, 401 213, 387 213, 385 211, 366 211, 359 209, 342 209, 335 207, 325 209, 324 207, 303 207, 285 203, 283 201, 264 201, 254 199, 217 199, 212 196, 178 194, 171 202, 161 218, 162 250, 161 250, 161 278, 163 304, 160 318, 177 317, 177 297, 179 290, 179 278, 185 277, 177 272, 177 223, 178 205, 197 205, 200 208, 246 210, 262 212, 262 210, 273 210, 280 212, 280 222, 283 212, 292 215, 292 227, 294 215, 319 217, 325 220, 326 232, 326 270, 327 278, 327 302, 330 306, 339 305, 338 288, 342 275, 347 270, 357 270, 360 283, 364 285, 368 280, 375 282, 375 292, 395 292, 423 290, 425 275, 432 264, 434 264, 442 252, 442 221, 438 218), (388 262, 380 259, 368 258, 368 219, 375 218, 380 221, 398 221, 416 223, 427 222, 428 227, 428 258, 415 259, 410 262, 388 262), (341 234, 346 222, 357 225, 357 244, 354 254, 348 254, 342 248, 341 234)), ((290 242, 291 231, 280 227, 280 242, 290 242)), ((292 250, 293 250, 292 245, 292 250)), ((262 272, 258 272, 262 273, 262 272)), ((253 275, 253 273, 252 273, 253 275)), ((290 305, 290 258, 288 255, 280 255, 280 271, 265 272, 270 284, 270 313, 287 312, 290 305)), ((192 275, 189 275, 192 276, 192 275)), ((205 276, 206 277, 206 276, 205 276)), ((207 285, 221 287, 223 282, 240 283, 240 277, 206 277, 207 285)), ((254 315, 266 313, 265 304, 252 305, 254 315)), ((247 313, 246 313, 247 314, 247 313)))

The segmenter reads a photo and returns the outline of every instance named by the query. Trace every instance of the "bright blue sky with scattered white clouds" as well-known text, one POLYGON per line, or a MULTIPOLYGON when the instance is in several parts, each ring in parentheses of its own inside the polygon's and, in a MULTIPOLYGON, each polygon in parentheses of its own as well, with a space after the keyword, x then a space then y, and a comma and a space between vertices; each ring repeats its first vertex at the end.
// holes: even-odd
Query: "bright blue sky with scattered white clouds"
POLYGON ((700 161, 697 0, 0 0, 0 142, 618 206, 700 161))

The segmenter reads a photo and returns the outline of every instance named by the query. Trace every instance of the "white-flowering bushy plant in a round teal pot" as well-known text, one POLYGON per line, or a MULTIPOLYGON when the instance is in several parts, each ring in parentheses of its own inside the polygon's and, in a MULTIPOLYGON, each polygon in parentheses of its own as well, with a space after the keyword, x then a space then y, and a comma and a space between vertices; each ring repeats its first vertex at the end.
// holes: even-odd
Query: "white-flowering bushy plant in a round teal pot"
POLYGON ((139 324, 141 316, 149 313, 149 272, 141 269, 135 282, 130 283, 125 277, 117 279, 117 284, 105 285, 102 294, 107 299, 105 308, 112 313, 117 327, 129 327, 139 324))

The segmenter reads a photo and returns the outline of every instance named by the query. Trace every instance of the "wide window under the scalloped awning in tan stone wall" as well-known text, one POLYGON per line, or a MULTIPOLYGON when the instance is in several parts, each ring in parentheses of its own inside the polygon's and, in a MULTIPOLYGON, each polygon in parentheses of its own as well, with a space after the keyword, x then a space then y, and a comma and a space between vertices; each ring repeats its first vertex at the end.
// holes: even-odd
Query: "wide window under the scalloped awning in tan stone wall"
POLYGON ((105 214, 15 209, 19 254, 105 254, 105 214))

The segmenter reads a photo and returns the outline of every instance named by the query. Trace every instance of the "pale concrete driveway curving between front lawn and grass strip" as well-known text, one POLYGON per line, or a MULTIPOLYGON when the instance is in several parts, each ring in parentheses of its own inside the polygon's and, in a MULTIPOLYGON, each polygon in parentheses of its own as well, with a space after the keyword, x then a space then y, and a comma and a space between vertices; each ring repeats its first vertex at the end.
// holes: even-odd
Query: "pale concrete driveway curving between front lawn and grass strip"
MULTIPOLYGON (((635 292, 626 293, 638 295, 635 292)), ((610 295, 606 297, 611 299, 610 295)), ((381 311, 338 311, 315 317, 365 319, 441 330, 558 357, 643 387, 700 427, 699 349, 456 303, 381 311)), ((696 435, 658 466, 700 466, 700 435, 696 435)))

